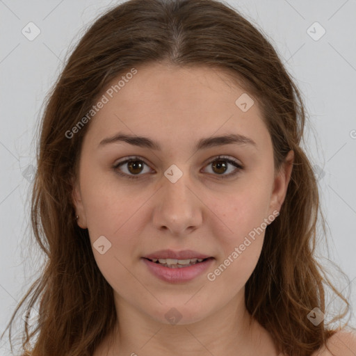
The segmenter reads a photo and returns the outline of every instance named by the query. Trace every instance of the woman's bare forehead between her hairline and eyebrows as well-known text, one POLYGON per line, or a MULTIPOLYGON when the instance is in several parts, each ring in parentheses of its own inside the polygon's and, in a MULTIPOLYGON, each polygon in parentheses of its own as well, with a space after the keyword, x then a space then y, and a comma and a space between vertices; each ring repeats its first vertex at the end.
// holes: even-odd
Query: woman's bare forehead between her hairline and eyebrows
POLYGON ((108 83, 102 92, 108 102, 92 119, 87 133, 95 143, 118 131, 167 143, 172 138, 179 143, 233 132, 260 145, 268 143, 257 101, 252 102, 225 72, 159 63, 136 69, 137 73, 131 79, 126 77, 120 87, 118 81, 125 74, 108 83), (250 106, 247 111, 238 106, 239 98, 250 106))

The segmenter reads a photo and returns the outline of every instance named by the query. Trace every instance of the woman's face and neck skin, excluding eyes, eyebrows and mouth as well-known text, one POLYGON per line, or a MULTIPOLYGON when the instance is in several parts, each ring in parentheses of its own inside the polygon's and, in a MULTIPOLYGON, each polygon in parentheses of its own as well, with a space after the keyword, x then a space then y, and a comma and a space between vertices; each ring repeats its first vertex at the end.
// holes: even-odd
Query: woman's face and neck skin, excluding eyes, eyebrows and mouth
MULTIPOLYGON (((277 355, 270 334, 250 323, 244 300, 265 231, 213 282, 207 273, 185 283, 163 282, 141 257, 166 248, 191 249, 214 257, 207 272, 215 270, 249 232, 280 211, 293 151, 275 175, 272 141, 257 101, 241 111, 235 101, 245 90, 223 72, 162 63, 137 69, 92 118, 73 190, 78 224, 88 229, 91 243, 99 236, 111 242, 104 254, 95 248, 93 253, 113 287, 119 322, 95 356, 236 355, 236 350, 277 355), (124 142, 98 147, 118 132, 146 136, 162 150, 124 142), (227 133, 248 136, 256 146, 195 149, 200 138, 227 133), (218 179, 222 170, 208 163, 218 155, 235 159, 243 170, 218 179), (140 156, 141 172, 127 163, 121 171, 138 179, 121 177, 120 168, 113 168, 129 156, 140 156), (183 172, 174 184, 164 175, 172 164, 183 172), (172 307, 181 314, 176 325, 165 318, 172 307)), ((223 175, 236 169, 226 164, 223 175)))

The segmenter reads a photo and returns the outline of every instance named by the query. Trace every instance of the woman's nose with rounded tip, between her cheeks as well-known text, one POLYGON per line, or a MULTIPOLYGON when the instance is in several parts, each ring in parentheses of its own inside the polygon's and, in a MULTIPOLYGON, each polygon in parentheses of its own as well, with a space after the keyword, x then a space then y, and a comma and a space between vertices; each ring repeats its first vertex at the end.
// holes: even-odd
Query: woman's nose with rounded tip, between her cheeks
POLYGON ((175 236, 186 235, 202 225, 202 207, 196 189, 188 174, 175 183, 162 177, 163 186, 156 194, 153 223, 159 230, 168 230, 175 236))

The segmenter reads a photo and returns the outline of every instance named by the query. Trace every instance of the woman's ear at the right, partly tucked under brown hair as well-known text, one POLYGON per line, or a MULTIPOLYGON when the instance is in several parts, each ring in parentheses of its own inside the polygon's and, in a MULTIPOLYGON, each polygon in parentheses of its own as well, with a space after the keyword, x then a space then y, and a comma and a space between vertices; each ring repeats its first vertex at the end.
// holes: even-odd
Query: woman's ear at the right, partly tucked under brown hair
POLYGON ((273 184, 273 191, 270 197, 270 213, 277 210, 280 211, 284 199, 286 197, 286 191, 288 188, 289 180, 291 179, 291 173, 293 169, 294 151, 289 151, 286 155, 284 163, 282 163, 280 171, 275 176, 273 184))

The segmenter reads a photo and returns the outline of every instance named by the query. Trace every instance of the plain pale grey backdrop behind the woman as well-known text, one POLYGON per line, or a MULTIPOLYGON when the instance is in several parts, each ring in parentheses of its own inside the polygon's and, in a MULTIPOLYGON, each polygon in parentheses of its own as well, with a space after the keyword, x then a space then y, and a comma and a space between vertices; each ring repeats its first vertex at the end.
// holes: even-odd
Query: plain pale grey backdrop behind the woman
MULTIPOLYGON (((330 254, 325 244, 319 250, 348 275, 349 282, 337 277, 337 285, 351 293, 355 305, 356 1, 227 2, 268 37, 302 92, 309 118, 305 148, 330 228, 330 254)), ((115 3, 0 0, 0 332, 40 273, 41 260, 28 241, 33 137, 41 105, 67 52, 115 3)), ((8 355, 4 341, 0 346, 0 355, 8 355)))

